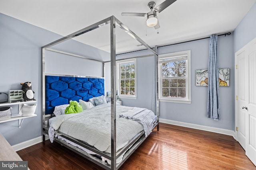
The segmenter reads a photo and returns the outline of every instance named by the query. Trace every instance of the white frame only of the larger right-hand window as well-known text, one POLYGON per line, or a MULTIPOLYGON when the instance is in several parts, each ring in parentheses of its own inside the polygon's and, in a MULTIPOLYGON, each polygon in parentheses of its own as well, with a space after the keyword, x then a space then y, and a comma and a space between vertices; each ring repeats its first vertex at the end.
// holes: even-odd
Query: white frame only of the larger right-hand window
POLYGON ((179 51, 175 53, 167 53, 158 55, 158 87, 159 87, 159 101, 160 102, 174 102, 191 104, 191 51, 179 51), (170 98, 162 96, 162 63, 161 59, 172 58, 179 56, 187 56, 186 60, 186 98, 170 98))

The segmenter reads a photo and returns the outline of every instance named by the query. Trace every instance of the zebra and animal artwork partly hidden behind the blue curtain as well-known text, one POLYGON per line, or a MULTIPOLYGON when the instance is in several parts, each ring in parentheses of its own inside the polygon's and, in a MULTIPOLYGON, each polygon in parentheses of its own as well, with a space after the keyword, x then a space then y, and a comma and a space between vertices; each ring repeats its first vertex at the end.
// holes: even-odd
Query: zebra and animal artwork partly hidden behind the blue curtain
MULTIPOLYGON (((220 86, 229 86, 229 68, 219 68, 220 86)), ((196 86, 208 86, 208 69, 196 70, 196 86)))

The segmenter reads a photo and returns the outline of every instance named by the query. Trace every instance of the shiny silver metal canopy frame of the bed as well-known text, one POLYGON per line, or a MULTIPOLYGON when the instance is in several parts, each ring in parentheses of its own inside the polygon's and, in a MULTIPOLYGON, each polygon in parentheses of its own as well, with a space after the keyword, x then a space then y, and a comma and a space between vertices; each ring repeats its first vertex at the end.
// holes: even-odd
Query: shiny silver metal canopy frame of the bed
MULTIPOLYGON (((43 139, 44 137, 44 130, 47 130, 47 124, 45 121, 45 50, 54 51, 58 53, 63 53, 67 55, 72 55, 75 57, 80 57, 84 59, 90 59, 99 61, 96 59, 91 59, 88 57, 83 57, 80 55, 73 55, 70 53, 66 53, 63 51, 58 51, 54 49, 50 49, 50 47, 57 45, 59 43, 62 43, 64 41, 67 41, 69 39, 72 39, 74 37, 77 37, 79 35, 82 35, 84 33, 87 33, 89 31, 92 31, 94 29, 97 29, 98 27, 102 27, 104 25, 110 24, 110 69, 111 69, 111 169, 116 170, 121 165, 119 164, 118 167, 116 166, 116 26, 120 27, 122 30, 124 30, 128 35, 130 35, 132 38, 136 39, 138 42, 140 42, 142 45, 144 45, 148 50, 150 50, 156 57, 158 56, 158 53, 154 51, 147 43, 145 43, 140 37, 138 37, 135 33, 133 33, 128 27, 126 27, 122 22, 120 22, 117 18, 114 16, 110 16, 109 18, 106 18, 102 21, 99 21, 97 23, 94 23, 88 27, 85 27, 84 29, 80 29, 79 31, 76 31, 70 35, 67 35, 66 37, 62 37, 56 41, 53 41, 52 43, 49 43, 47 45, 44 45, 42 47, 42 127, 43 127, 43 139)), ((104 61, 100 61, 104 65, 104 61)), ((105 73, 104 73, 105 74, 105 73)), ((144 140, 142 140, 140 143, 142 143, 144 140)), ((139 144, 140 145, 140 144, 139 144)), ((138 147, 138 146, 137 146, 138 147)), ((137 148, 136 147, 136 148, 137 148)), ((129 154, 130 155, 130 154, 129 154)), ((126 160, 127 158, 125 158, 126 160)))

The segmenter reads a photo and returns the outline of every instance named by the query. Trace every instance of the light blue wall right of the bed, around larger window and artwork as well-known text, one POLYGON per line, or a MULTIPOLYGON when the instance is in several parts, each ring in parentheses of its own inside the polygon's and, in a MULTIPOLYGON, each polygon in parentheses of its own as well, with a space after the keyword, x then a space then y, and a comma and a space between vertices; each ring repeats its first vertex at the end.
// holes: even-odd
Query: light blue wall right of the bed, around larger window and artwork
POLYGON ((218 37, 219 68, 230 68, 230 86, 220 87, 220 121, 207 115, 207 87, 196 86, 196 70, 208 68, 209 38, 158 48, 159 54, 191 50, 191 104, 160 102, 160 118, 233 130, 234 58, 233 34, 218 37))

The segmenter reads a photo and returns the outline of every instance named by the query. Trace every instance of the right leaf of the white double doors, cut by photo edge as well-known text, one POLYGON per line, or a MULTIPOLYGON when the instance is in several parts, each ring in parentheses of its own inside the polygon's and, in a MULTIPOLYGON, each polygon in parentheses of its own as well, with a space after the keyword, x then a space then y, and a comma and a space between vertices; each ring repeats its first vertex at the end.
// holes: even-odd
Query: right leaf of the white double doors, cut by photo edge
POLYGON ((245 154, 256 165, 256 39, 246 49, 248 55, 248 103, 246 109, 245 154))

